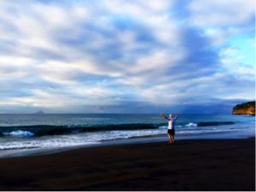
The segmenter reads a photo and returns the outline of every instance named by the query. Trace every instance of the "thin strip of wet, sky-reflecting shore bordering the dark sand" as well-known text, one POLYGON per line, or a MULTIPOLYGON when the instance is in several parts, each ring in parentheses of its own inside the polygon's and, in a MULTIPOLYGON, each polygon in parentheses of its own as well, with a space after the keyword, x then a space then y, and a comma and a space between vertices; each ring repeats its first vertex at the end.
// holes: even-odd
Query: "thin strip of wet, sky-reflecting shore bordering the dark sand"
MULTIPOLYGON (((177 135, 175 140, 201 140, 201 139, 244 139, 254 138, 255 131, 252 133, 234 133, 234 132, 223 132, 223 133, 201 133, 195 135, 177 135)), ((165 134, 151 135, 151 136, 138 136, 131 138, 117 138, 114 140, 103 140, 96 144, 80 144, 73 146, 64 146, 58 148, 31 148, 31 149, 13 149, 13 150, 0 150, 0 159, 13 158, 20 156, 34 156, 34 155, 50 155, 55 153, 61 153, 68 150, 77 150, 83 148, 96 148, 102 146, 111 146, 119 144, 150 144, 167 142, 167 136, 165 134)))

